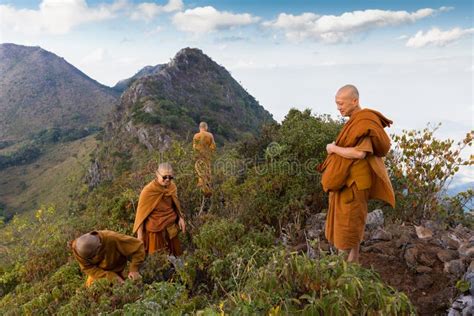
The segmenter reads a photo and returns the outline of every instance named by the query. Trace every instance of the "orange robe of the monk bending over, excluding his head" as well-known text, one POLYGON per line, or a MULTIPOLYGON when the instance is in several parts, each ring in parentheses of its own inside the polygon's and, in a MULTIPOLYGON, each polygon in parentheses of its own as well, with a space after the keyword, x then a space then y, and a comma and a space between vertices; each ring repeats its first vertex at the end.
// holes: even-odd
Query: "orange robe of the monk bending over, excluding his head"
POLYGON ((138 272, 140 265, 145 260, 143 243, 137 238, 119 234, 110 230, 91 232, 101 240, 101 247, 92 259, 82 258, 76 251, 76 241, 72 242, 72 252, 79 262, 81 270, 88 276, 86 286, 95 280, 107 278, 114 281, 117 277, 125 278, 123 271, 130 257, 130 272, 138 272))

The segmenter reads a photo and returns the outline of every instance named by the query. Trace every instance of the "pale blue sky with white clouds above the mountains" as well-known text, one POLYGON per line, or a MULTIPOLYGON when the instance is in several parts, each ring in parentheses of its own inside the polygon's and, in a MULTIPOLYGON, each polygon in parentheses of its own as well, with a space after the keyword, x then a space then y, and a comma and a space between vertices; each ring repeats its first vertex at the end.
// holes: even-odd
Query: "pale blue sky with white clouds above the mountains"
MULTIPOLYGON (((277 121, 292 107, 337 116, 358 87, 389 133, 473 129, 473 1, 0 0, 0 42, 40 46, 113 86, 197 47, 277 121)), ((466 152, 469 156, 472 152, 466 152)), ((474 183, 473 168, 458 181, 474 183)))

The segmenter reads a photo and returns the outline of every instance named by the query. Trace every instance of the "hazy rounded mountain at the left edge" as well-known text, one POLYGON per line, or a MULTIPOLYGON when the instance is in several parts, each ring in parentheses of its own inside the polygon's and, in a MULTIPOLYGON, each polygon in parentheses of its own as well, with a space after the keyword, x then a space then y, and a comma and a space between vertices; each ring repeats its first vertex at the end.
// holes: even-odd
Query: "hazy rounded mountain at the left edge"
POLYGON ((118 93, 40 47, 0 45, 0 142, 101 126, 118 93))

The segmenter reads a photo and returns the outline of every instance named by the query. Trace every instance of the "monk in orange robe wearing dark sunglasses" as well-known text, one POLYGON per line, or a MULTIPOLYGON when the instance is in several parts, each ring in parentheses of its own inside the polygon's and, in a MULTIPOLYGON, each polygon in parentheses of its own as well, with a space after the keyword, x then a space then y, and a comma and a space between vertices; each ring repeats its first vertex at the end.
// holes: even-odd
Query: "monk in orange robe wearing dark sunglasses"
POLYGON ((173 168, 162 163, 155 172, 156 178, 140 193, 133 224, 133 233, 143 241, 148 254, 163 251, 169 255, 182 254, 178 228, 186 232, 186 222, 178 200, 173 168))

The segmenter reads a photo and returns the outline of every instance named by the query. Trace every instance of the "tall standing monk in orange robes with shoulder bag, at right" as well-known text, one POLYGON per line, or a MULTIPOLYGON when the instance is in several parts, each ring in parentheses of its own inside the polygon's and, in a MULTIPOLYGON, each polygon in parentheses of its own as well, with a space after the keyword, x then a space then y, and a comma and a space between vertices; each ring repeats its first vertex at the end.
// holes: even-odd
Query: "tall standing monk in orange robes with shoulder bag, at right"
POLYGON ((392 121, 377 111, 362 109, 353 85, 338 90, 336 104, 349 120, 336 141, 326 146, 328 156, 319 168, 323 189, 329 192, 325 235, 338 250, 349 252, 347 261, 359 262, 368 200, 379 199, 395 206, 392 184, 381 158, 390 149, 384 128, 392 121))

